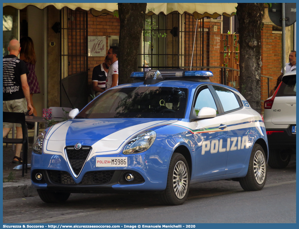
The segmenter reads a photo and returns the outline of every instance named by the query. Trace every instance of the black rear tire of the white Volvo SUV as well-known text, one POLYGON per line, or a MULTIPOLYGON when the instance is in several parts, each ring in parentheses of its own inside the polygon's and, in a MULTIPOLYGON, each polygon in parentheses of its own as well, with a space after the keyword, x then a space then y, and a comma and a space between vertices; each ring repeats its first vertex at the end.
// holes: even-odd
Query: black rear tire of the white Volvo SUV
POLYGON ((268 165, 271 168, 286 168, 291 159, 287 150, 269 150, 268 165))

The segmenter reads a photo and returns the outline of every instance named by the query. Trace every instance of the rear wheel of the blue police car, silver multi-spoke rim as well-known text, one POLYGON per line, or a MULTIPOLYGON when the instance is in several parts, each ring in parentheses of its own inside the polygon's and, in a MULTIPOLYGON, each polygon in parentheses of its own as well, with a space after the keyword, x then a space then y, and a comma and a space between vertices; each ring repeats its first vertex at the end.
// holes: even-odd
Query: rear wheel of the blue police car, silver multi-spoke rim
POLYGON ((239 178, 239 183, 245 191, 263 189, 267 178, 266 156, 259 144, 254 144, 248 165, 246 177, 239 178))

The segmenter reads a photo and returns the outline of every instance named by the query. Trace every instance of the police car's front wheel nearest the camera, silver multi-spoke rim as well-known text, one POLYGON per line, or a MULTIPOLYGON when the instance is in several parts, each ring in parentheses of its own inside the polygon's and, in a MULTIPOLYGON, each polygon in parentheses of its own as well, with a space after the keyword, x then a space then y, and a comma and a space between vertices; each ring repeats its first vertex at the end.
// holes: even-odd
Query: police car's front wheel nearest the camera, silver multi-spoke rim
POLYGON ((166 189, 160 194, 160 201, 166 205, 180 205, 189 193, 190 172, 186 159, 180 153, 173 153, 170 160, 166 189))

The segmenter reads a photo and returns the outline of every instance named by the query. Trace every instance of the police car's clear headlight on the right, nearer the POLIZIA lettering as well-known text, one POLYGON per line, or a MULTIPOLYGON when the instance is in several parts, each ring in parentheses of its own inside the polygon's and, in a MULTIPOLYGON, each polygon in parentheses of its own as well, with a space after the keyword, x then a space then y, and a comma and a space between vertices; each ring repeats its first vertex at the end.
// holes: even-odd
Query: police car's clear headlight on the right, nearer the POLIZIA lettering
POLYGON ((153 130, 139 134, 137 137, 130 140, 128 144, 126 144, 123 153, 142 153, 145 150, 148 150, 149 147, 151 147, 154 143, 156 136, 156 132, 153 130))

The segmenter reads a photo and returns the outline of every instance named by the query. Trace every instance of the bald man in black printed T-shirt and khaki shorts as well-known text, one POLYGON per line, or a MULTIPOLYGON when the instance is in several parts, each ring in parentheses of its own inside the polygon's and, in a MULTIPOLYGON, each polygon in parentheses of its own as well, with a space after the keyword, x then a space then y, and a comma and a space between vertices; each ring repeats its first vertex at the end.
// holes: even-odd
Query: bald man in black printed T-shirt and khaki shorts
MULTIPOLYGON (((17 58, 21 48, 18 40, 11 40, 8 46, 9 55, 3 57, 3 111, 33 113, 30 104, 30 91, 26 74, 29 73, 24 61, 17 58), (12 60, 12 61, 11 61, 12 60)), ((3 138, 10 132, 12 123, 3 123, 3 138)), ((16 138, 23 138, 22 126, 16 123, 16 138)), ((20 153, 22 144, 16 144, 16 156, 13 163, 21 163, 20 153)))

